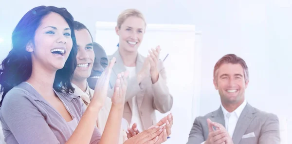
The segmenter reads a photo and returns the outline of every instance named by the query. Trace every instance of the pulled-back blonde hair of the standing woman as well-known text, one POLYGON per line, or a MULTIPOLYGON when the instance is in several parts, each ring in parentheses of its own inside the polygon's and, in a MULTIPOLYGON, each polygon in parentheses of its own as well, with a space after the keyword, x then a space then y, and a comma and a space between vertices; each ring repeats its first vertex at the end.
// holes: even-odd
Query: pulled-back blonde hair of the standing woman
POLYGON ((137 9, 126 9, 124 10, 119 16, 118 16, 118 21, 117 21, 117 27, 120 29, 121 25, 126 21, 129 17, 137 17, 141 18, 145 22, 146 26, 146 21, 143 16, 143 14, 137 10, 137 9))

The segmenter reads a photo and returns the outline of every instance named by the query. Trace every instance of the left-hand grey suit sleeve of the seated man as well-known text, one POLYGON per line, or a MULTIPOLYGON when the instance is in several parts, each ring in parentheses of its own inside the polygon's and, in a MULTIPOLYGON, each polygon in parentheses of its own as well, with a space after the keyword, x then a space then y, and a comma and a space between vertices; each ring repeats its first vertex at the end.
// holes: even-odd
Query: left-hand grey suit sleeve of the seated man
POLYGON ((193 123, 187 144, 204 144, 203 128, 199 118, 196 118, 193 123))

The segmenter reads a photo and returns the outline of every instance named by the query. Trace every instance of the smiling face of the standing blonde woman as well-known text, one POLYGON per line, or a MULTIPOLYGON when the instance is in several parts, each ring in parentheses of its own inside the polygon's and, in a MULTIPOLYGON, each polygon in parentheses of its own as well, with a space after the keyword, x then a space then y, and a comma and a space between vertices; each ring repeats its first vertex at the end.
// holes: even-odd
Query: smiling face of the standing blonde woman
POLYGON ((116 34, 119 36, 119 48, 136 52, 145 33, 145 21, 141 18, 131 16, 128 17, 121 27, 116 27, 116 34))

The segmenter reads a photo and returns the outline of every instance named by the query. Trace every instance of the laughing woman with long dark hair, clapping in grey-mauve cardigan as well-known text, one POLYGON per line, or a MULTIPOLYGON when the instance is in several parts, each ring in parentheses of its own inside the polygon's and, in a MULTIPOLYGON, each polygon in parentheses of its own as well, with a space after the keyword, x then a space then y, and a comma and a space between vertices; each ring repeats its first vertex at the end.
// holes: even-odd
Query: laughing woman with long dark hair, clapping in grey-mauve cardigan
MULTIPOLYGON (((116 144, 118 138, 110 132, 101 137, 95 126, 115 59, 86 108, 80 96, 72 94, 76 53, 73 17, 65 8, 38 6, 18 22, 12 50, 0 65, 0 121, 7 144, 116 144)), ((120 75, 113 94, 121 107, 127 88, 123 79, 120 75)), ((123 109, 115 111, 122 118, 123 109)), ((120 125, 110 130, 118 131, 120 125)))

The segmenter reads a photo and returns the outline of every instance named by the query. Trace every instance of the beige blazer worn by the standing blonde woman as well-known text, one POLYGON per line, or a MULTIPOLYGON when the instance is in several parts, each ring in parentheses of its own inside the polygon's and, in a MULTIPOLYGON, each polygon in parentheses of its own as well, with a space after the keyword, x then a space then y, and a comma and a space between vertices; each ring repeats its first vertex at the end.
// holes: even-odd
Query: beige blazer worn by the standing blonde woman
MULTIPOLYGON (((126 67, 124 66, 124 62, 121 58, 119 50, 108 57, 109 60, 111 60, 113 57, 116 58, 116 63, 112 68, 112 73, 110 76, 110 89, 108 96, 111 98, 113 95, 113 87, 117 80, 117 75, 121 72, 125 72, 126 67)), ((136 60, 136 73, 142 69, 145 59, 145 57, 138 54, 136 60)), ((166 74, 162 61, 159 62, 158 69, 159 78, 158 81, 154 84, 152 84, 150 72, 141 83, 138 83, 136 77, 128 79, 128 88, 126 92, 126 103, 123 117, 128 121, 128 123, 131 123, 132 98, 136 96, 138 110, 142 121, 141 127, 144 128, 143 130, 156 123, 155 110, 158 110, 161 113, 166 113, 170 111, 173 104, 173 97, 169 94, 169 90, 166 85, 166 74)))

